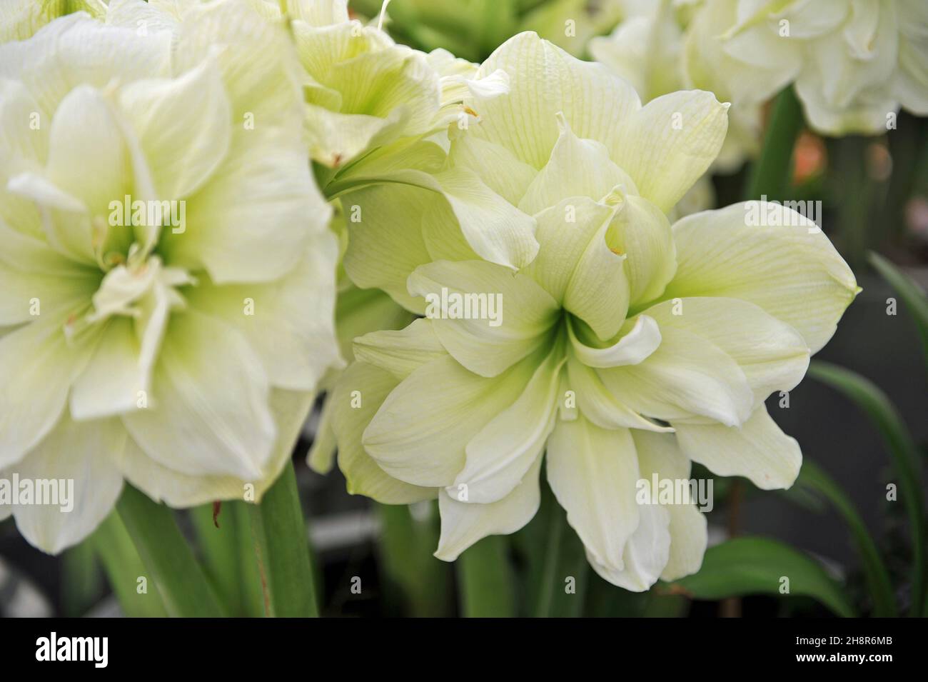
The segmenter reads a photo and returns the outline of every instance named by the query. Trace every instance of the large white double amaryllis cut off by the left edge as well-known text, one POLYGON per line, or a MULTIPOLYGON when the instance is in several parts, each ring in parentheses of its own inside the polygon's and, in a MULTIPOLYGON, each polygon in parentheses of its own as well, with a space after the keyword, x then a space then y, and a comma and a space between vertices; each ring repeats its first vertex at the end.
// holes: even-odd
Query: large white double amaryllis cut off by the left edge
POLYGON ((0 478, 76 497, 0 515, 49 552, 123 479, 173 506, 260 496, 339 361, 284 27, 238 0, 146 9, 0 45, 0 478))

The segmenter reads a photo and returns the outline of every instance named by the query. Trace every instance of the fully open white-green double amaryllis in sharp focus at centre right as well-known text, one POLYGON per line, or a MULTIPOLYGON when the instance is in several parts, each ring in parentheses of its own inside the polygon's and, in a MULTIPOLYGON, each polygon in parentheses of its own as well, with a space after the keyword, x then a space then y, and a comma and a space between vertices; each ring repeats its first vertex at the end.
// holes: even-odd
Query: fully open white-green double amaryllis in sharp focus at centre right
POLYGON ((853 274, 777 204, 671 228, 664 212, 725 136, 711 94, 642 107, 625 81, 532 33, 482 69, 507 71, 511 92, 475 98, 481 122, 451 159, 532 216, 537 255, 514 272, 468 251, 450 213, 428 216, 445 258, 407 280, 427 317, 355 341, 331 398, 339 466, 351 492, 381 502, 437 496, 436 556, 454 560, 533 517, 544 458, 605 579, 644 590, 692 573, 702 514, 637 492, 655 492, 653 475, 689 478, 690 461, 765 489, 793 483, 799 446, 764 399, 802 379, 853 274))

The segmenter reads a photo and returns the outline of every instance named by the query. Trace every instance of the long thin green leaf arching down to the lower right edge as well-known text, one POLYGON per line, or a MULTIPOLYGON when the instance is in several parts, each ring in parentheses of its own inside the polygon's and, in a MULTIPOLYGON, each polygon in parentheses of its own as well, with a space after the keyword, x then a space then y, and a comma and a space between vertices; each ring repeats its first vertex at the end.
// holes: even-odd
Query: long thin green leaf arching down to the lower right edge
POLYGON ((823 381, 857 405, 883 435, 899 478, 899 498, 909 516, 912 534, 912 613, 922 610, 925 600, 924 517, 922 515, 921 463, 919 451, 905 422, 886 394, 857 372, 819 360, 809 365, 808 374, 823 381))

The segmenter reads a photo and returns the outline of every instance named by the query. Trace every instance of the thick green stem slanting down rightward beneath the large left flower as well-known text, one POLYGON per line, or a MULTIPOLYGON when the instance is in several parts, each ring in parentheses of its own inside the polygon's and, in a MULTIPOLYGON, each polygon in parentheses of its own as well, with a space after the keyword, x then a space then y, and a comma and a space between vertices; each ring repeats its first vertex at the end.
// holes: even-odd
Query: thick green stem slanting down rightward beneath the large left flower
POLYGON ((169 615, 225 615, 200 564, 177 528, 171 509, 152 502, 128 484, 116 509, 138 556, 158 586, 169 615))

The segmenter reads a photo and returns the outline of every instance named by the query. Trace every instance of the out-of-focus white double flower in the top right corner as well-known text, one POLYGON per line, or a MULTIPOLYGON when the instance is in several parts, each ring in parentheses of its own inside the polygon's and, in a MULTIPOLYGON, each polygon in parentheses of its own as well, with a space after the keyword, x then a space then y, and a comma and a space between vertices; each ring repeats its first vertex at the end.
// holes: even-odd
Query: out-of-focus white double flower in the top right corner
POLYGON ((767 85, 771 95, 794 81, 806 120, 818 131, 885 132, 900 106, 928 114, 928 4, 923 0, 721 4, 731 6, 729 26, 717 40, 740 63, 730 70, 717 64, 720 77, 748 87, 767 85))

